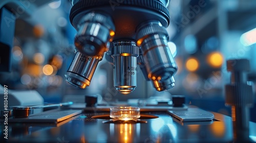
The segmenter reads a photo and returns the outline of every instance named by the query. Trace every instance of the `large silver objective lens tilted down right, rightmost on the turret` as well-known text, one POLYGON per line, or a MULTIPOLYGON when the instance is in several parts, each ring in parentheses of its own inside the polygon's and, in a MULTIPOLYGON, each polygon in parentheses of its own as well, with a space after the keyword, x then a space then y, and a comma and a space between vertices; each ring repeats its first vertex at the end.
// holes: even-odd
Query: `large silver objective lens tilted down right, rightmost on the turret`
POLYGON ((137 29, 137 45, 141 46, 147 77, 158 91, 174 86, 178 68, 167 42, 167 31, 159 21, 148 21, 137 29))

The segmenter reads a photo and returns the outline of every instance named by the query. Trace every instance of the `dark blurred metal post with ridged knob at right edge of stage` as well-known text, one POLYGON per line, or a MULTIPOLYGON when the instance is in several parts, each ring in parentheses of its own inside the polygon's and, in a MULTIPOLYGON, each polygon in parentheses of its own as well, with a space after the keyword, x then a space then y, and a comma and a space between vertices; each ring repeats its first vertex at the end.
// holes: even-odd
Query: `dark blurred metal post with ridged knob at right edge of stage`
POLYGON ((230 84, 225 86, 226 105, 231 106, 234 141, 249 141, 249 107, 253 107, 252 86, 247 83, 249 60, 228 60, 230 84))

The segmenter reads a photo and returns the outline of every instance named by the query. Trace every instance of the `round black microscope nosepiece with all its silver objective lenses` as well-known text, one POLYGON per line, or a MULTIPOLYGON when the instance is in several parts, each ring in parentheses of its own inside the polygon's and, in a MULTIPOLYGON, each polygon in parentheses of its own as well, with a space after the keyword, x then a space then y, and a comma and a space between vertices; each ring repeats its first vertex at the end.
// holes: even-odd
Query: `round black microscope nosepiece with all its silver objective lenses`
MULTIPOLYGON (((174 86, 177 65, 168 47, 166 28, 170 16, 169 1, 104 1, 72 0, 70 21, 77 30, 75 46, 81 57, 99 59, 102 54, 113 61, 114 86, 120 93, 131 93, 137 86, 137 63, 146 80, 151 80, 157 91, 174 86), (107 44, 110 45, 111 51, 107 44), (139 60, 137 62, 137 57, 139 60), (111 59, 113 58, 113 60, 111 59)), ((81 60, 81 59, 80 59, 81 60)), ((77 65, 77 56, 67 71, 67 81, 85 88, 90 85, 82 75, 94 74, 97 64, 77 65), (71 68, 80 70, 71 71, 71 68), (75 76, 71 76, 75 74, 75 76), (77 78, 79 77, 79 78, 77 78)), ((79 62, 88 62, 79 61, 79 62)), ((91 79, 90 79, 91 80, 91 79)), ((89 81, 90 81, 89 80, 89 81)))

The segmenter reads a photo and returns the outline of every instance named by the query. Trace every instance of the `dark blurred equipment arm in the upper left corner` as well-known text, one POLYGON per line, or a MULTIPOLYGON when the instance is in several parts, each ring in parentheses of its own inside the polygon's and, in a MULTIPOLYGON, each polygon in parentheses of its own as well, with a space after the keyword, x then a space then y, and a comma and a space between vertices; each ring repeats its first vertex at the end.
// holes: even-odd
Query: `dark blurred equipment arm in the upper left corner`
MULTIPOLYGON (((0 3, 0 72, 10 72, 15 22, 18 18, 29 17, 32 12, 49 2, 46 0, 31 4, 30 1, 3 0, 0 3)), ((34 2, 34 1, 33 1, 34 2)))

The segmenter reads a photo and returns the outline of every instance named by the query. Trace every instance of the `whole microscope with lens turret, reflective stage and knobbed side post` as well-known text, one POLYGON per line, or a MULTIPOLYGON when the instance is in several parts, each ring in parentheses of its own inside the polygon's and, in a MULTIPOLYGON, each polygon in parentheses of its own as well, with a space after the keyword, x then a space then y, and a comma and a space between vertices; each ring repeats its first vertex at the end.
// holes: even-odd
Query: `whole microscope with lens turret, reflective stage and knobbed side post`
MULTIPOLYGON (((4 27, 6 25, 3 24, 5 22, 3 16, 11 17, 12 13, 18 13, 19 6, 27 4, 24 2, 32 1, 35 2, 35 6, 29 7, 20 14, 21 16, 26 17, 26 14, 29 15, 27 12, 33 11, 36 6, 52 2, 51 0, 0 2, 0 45, 5 53, 11 52, 14 35, 5 36, 3 31, 6 31, 7 27, 4 27), (15 9, 10 11, 10 8, 15 9)), ((144 79, 150 81, 157 91, 165 91, 175 86, 174 76, 178 66, 168 47, 169 37, 166 31, 170 23, 167 9, 169 0, 68 1, 72 5, 69 19, 77 31, 74 38, 75 56, 65 74, 69 84, 81 89, 90 86, 97 66, 105 58, 113 68, 113 86, 122 94, 129 94, 136 89, 139 68, 144 79)), ((12 29, 13 33, 14 23, 10 24, 12 25, 9 29, 12 29)), ((6 60, 10 57, 1 52, 0 58, 0 70, 10 70, 10 60, 6 60)), ((9 123, 10 140, 8 141, 248 141, 249 137, 256 136, 254 131, 256 124, 239 115, 246 116, 249 107, 252 106, 252 87, 247 85, 245 76, 245 72, 249 71, 249 62, 235 61, 238 64, 232 64, 234 61, 227 63, 228 71, 232 74, 230 84, 226 85, 226 104, 232 106, 232 118, 220 113, 204 111, 195 106, 187 106, 184 104, 184 98, 180 96, 172 99, 172 105, 159 102, 158 105, 126 104, 126 107, 115 107, 117 104, 97 105, 95 96, 86 96, 86 106, 83 104, 82 107, 73 102, 30 107, 13 106, 9 113, 13 111, 16 114, 13 117, 6 117, 9 123), (244 97, 243 92, 246 92, 248 98, 241 102, 240 99, 244 97), (46 107, 58 108, 31 113, 33 109, 46 107), (233 135, 232 129, 235 130, 233 135), (96 133, 93 132, 95 130, 96 133)), ((32 95, 31 92, 26 92, 28 101, 35 94, 37 93, 32 95)), ((39 98, 40 95, 37 94, 37 97, 39 98)), ((11 100, 9 101, 11 105, 11 100)), ((2 127, 6 129, 2 124, 6 118, 1 119, 1 129, 2 127)))

